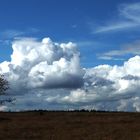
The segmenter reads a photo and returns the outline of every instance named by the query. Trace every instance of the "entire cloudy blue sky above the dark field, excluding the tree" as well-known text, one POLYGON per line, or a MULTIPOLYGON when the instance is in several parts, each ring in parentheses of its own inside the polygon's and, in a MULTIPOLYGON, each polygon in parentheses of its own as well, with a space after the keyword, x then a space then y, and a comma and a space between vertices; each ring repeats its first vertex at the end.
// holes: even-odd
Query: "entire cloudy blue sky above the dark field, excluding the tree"
POLYGON ((139 0, 1 0, 0 110, 140 110, 139 0))

